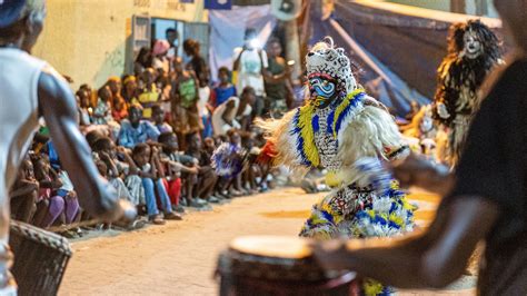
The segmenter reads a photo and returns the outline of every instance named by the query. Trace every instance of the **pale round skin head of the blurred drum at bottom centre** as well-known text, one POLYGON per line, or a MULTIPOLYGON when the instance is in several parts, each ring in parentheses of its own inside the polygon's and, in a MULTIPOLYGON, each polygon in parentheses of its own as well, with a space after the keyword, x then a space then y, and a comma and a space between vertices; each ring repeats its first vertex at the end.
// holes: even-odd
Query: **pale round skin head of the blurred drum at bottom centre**
POLYGON ((232 240, 230 249, 261 257, 302 259, 311 256, 309 241, 289 236, 246 236, 232 240))

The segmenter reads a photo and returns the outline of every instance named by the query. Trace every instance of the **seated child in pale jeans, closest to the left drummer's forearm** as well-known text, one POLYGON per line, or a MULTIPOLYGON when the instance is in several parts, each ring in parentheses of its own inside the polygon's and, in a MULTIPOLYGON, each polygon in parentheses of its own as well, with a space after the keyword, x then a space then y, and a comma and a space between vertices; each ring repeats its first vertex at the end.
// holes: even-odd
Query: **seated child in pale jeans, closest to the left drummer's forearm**
POLYGON ((106 178, 116 188, 118 196, 137 207, 145 205, 142 180, 130 154, 122 147, 116 147, 108 137, 101 137, 93 144, 93 152, 105 164, 106 178), (123 161, 119 160, 118 156, 122 157, 123 161))

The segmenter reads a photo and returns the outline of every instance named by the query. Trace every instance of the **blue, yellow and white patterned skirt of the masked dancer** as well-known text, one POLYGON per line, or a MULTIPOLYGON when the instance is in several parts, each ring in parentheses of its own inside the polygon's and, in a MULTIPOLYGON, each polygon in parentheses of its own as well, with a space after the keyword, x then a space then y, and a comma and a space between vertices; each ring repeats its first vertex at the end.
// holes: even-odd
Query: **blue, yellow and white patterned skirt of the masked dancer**
MULTIPOLYGON (((350 185, 331 191, 312 207, 300 236, 324 240, 396 236, 412 230, 414 210, 397 181, 382 195, 371 187, 350 185)), ((394 293, 372 279, 366 279, 362 288, 365 295, 394 293)))

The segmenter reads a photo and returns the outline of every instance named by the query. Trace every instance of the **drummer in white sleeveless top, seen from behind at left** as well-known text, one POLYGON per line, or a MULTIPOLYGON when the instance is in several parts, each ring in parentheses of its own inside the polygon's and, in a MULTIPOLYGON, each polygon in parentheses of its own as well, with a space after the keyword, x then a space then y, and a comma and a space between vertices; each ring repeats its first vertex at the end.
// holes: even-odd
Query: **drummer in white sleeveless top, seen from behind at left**
POLYGON ((68 83, 46 61, 30 56, 42 31, 44 0, 0 0, 0 295, 16 295, 9 276, 8 190, 43 116, 62 165, 93 217, 135 217, 99 177, 77 126, 76 100, 68 83))

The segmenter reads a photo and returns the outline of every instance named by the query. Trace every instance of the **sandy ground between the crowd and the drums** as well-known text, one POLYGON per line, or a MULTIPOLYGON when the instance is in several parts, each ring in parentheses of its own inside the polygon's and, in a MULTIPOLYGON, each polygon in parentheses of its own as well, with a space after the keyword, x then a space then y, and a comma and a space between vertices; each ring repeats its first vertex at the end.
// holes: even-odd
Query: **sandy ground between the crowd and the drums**
MULTIPOLYGON (((190 213, 183 221, 133 233, 107 231, 74 241, 60 295, 217 295, 218 254, 246 235, 297 236, 309 208, 321 195, 284 188, 238 198, 212 211, 190 213)), ((434 217, 437 197, 412 196, 418 225, 434 217)), ((471 295, 471 278, 444 292, 402 295, 471 295)))

